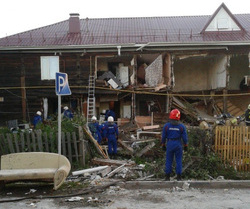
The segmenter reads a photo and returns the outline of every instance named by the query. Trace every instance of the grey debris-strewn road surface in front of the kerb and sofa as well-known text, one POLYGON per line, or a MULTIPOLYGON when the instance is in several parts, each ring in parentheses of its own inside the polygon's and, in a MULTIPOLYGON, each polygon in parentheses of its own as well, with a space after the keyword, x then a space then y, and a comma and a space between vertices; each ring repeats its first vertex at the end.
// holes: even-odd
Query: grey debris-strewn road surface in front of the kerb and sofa
POLYGON ((86 188, 72 189, 65 187, 53 191, 52 185, 11 185, 1 191, 0 201, 10 202, 1 202, 0 208, 250 208, 250 189, 200 189, 184 187, 183 184, 183 187, 161 189, 125 189, 122 185, 114 185, 87 194, 82 194, 83 191, 86 191, 86 188), (20 200, 21 198, 27 199, 20 200), (80 200, 75 199, 71 202, 71 198, 79 198, 80 200), (18 199, 19 201, 16 201, 18 199))

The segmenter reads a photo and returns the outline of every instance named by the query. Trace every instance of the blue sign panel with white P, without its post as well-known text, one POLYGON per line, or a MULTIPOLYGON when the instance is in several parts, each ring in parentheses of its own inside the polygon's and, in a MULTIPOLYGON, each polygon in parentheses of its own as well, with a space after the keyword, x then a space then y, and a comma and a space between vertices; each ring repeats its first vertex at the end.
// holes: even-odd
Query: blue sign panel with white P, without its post
POLYGON ((71 95, 67 73, 56 73, 56 95, 71 95))

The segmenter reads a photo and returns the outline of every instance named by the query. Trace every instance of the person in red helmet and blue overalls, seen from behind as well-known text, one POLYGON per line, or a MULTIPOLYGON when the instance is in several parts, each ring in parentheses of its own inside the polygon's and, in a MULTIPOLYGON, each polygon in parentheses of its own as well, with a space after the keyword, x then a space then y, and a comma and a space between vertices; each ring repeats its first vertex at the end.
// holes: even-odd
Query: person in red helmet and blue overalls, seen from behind
POLYGON ((186 127, 179 122, 180 117, 181 113, 178 109, 172 110, 169 115, 170 122, 166 123, 162 130, 161 144, 163 150, 166 150, 165 174, 167 181, 170 180, 174 156, 176 161, 177 181, 181 180, 183 152, 182 144, 184 144, 184 151, 187 151, 187 131, 186 127))

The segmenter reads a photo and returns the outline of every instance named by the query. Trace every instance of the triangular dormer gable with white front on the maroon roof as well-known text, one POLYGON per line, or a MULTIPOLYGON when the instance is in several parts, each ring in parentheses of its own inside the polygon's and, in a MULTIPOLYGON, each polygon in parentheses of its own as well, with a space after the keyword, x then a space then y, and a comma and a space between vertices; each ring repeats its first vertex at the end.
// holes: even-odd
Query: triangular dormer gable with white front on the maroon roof
POLYGON ((202 32, 241 31, 243 27, 224 3, 215 11, 202 32))

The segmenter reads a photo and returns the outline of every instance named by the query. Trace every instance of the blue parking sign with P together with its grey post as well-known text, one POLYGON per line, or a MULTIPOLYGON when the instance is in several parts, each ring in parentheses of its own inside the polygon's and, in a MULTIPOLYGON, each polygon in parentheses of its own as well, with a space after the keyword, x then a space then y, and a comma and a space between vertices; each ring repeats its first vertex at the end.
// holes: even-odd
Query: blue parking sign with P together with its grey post
POLYGON ((58 154, 61 154, 62 150, 62 113, 61 113, 61 96, 71 95, 71 91, 68 83, 68 75, 66 73, 56 73, 56 95, 58 96, 58 154))

